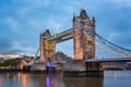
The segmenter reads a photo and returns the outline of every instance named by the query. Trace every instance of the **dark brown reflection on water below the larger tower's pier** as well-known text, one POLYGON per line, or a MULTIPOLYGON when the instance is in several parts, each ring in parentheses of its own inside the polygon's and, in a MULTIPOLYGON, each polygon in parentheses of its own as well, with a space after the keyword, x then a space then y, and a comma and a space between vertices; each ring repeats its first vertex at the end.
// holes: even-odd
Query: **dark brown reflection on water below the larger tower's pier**
POLYGON ((103 77, 64 78, 66 87, 103 87, 103 77))

